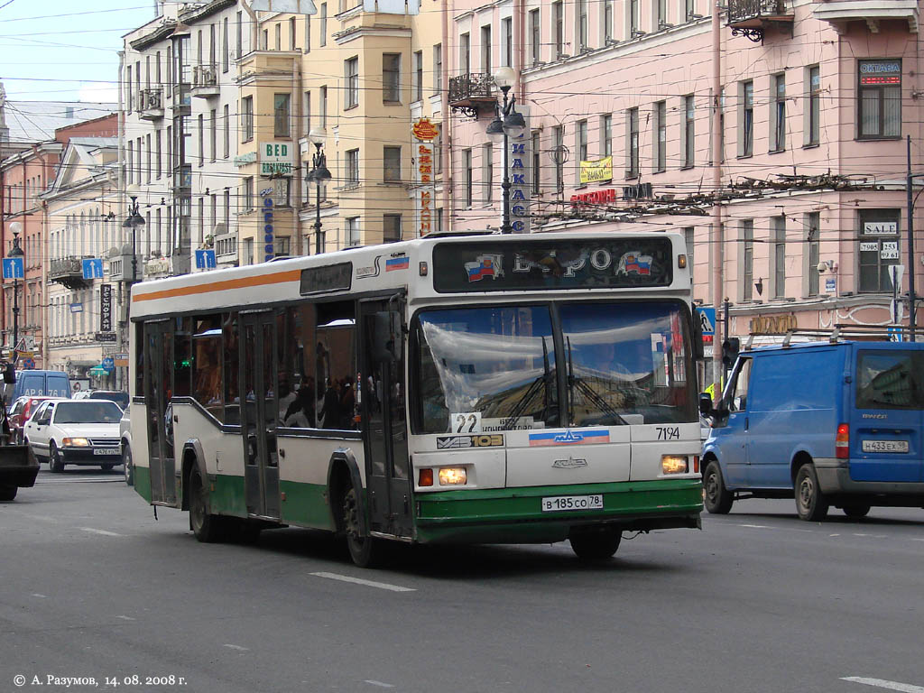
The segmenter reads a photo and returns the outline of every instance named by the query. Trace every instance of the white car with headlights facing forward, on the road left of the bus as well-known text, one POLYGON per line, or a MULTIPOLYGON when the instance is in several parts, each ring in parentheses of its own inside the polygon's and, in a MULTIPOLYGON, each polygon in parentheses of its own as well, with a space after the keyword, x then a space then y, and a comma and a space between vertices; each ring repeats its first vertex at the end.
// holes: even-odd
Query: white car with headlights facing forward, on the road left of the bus
POLYGON ((65 465, 121 464, 118 422, 122 409, 107 399, 51 399, 43 402, 23 429, 23 437, 52 471, 65 465))

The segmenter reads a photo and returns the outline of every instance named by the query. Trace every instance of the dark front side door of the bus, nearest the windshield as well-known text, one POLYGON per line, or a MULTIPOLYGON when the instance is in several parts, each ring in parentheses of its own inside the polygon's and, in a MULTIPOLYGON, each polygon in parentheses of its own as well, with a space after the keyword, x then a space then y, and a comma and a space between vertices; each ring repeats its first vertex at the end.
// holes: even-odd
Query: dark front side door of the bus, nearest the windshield
POLYGON ((366 487, 370 529, 401 537, 413 531, 411 520, 410 463, 407 454, 407 407, 405 400, 405 348, 395 305, 383 300, 359 304, 362 325, 363 438, 366 446, 366 487), (391 320, 383 319, 392 315, 391 320), (390 336, 396 336, 390 339, 390 336), (391 343, 390 355, 381 346, 391 343))

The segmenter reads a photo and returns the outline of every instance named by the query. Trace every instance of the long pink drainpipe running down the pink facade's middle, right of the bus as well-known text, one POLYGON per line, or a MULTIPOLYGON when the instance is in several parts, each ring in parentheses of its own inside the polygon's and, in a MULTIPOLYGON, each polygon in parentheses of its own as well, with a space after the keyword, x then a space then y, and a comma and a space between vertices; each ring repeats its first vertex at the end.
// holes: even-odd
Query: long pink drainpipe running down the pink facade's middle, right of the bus
MULTIPOLYGON (((721 10, 718 0, 712 3, 712 185, 716 192, 722 187, 722 26, 721 10)), ((712 305, 716 313, 722 307, 723 286, 723 245, 722 204, 712 206, 712 305)), ((727 336, 715 321, 715 333, 712 337, 712 382, 715 383, 722 372, 722 341, 727 336)), ((704 383, 705 384, 705 383, 704 383)), ((715 388, 713 400, 718 403, 722 388, 715 388)))

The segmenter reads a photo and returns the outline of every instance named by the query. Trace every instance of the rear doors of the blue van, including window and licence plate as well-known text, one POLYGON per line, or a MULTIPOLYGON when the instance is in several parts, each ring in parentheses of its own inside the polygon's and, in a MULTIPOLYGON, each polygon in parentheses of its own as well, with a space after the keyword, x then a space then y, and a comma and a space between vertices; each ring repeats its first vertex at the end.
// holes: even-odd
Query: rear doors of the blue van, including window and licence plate
POLYGON ((924 480, 924 352, 898 345, 857 350, 850 407, 850 478, 924 480))

